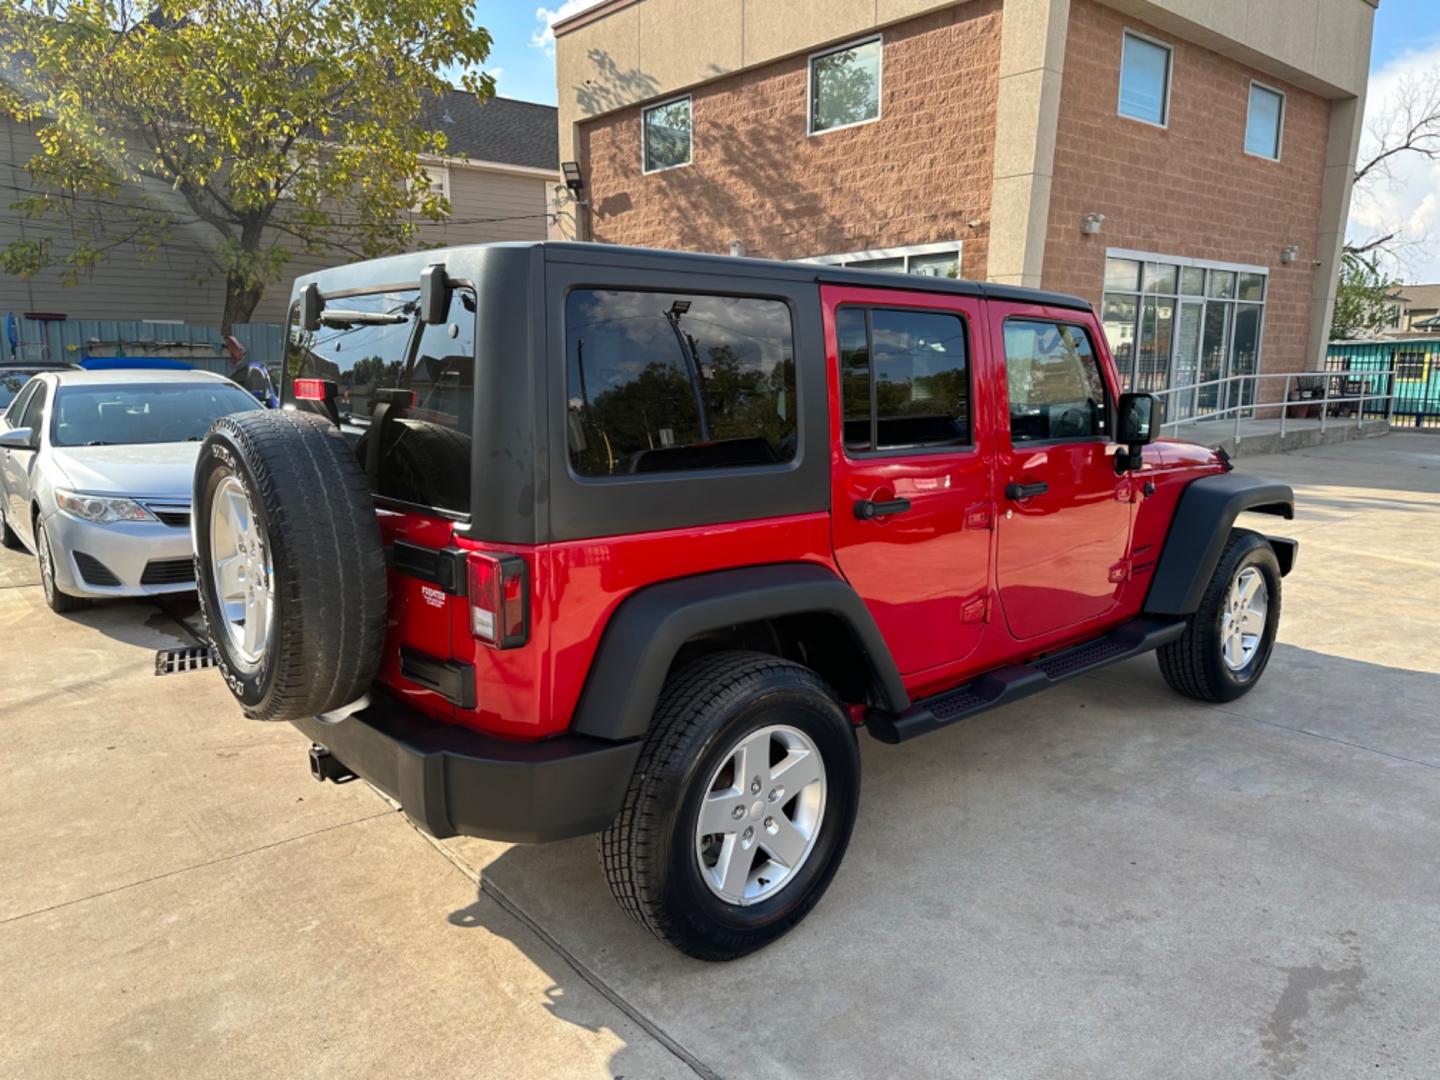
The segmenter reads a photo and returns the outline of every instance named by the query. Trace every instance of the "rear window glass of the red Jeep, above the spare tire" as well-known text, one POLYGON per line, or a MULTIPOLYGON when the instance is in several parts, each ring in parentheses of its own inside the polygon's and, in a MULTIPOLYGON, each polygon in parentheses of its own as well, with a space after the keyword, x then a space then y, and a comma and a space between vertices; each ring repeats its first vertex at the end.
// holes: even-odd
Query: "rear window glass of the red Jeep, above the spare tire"
POLYGON ((285 360, 285 408, 330 416, 324 400, 297 399, 297 379, 334 383, 336 415, 361 467, 380 452, 370 482, 380 498, 469 513, 471 432, 475 415, 475 295, 451 292, 445 323, 416 318, 419 292, 397 289, 327 302, 331 315, 314 331, 291 315, 285 360), (395 323, 347 324, 334 311, 400 317, 395 323), (382 416, 383 423, 376 425, 382 416))

